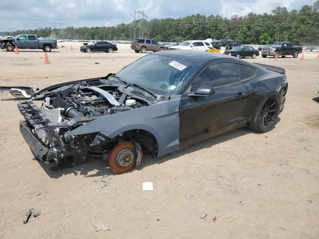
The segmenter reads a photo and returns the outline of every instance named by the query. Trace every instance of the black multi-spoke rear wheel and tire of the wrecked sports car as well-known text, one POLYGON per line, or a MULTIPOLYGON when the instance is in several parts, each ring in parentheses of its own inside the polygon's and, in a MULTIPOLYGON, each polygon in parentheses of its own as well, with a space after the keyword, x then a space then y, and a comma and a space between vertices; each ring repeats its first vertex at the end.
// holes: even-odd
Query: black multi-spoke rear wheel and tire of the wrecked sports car
POLYGON ((258 108, 249 127, 258 132, 268 132, 275 126, 279 115, 279 99, 272 95, 267 97, 258 108))

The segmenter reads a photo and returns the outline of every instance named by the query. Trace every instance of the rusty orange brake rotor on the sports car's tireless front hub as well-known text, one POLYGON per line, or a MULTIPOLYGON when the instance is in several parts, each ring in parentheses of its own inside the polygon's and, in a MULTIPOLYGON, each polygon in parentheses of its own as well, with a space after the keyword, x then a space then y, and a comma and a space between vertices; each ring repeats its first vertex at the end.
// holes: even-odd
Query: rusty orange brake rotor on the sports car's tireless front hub
POLYGON ((136 153, 134 146, 134 142, 124 141, 112 149, 109 164, 114 173, 126 173, 135 167, 136 153))

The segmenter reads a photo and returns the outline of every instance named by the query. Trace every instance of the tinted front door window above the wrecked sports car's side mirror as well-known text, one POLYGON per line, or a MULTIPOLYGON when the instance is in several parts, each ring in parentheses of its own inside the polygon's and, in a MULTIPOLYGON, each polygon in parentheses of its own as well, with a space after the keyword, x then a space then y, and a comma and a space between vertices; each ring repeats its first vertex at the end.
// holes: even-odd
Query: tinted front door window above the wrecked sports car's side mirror
POLYGON ((240 81, 239 64, 217 63, 206 68, 191 85, 191 91, 196 91, 201 85, 218 87, 240 81))

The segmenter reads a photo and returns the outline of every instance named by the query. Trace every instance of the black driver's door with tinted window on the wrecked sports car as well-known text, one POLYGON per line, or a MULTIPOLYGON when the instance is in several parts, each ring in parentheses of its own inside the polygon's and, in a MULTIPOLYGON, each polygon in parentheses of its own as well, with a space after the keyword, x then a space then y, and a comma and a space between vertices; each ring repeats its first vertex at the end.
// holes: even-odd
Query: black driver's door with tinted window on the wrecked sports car
POLYGON ((245 123, 242 112, 247 101, 247 88, 240 81, 239 64, 221 62, 208 66, 194 79, 189 91, 195 92, 200 85, 213 87, 215 94, 182 95, 179 120, 181 147, 245 123))

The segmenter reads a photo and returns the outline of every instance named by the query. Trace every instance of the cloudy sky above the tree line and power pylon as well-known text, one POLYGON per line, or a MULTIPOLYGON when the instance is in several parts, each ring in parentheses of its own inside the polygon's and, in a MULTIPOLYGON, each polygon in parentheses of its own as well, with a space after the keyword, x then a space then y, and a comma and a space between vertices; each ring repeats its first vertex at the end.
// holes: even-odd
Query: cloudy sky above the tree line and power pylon
POLYGON ((271 13, 276 6, 288 10, 312 5, 315 0, 10 0, 1 4, 0 32, 39 27, 112 26, 129 23, 134 9, 148 19, 192 14, 230 17, 249 12, 271 13))

